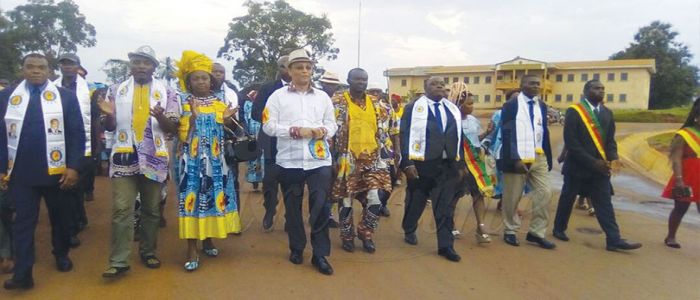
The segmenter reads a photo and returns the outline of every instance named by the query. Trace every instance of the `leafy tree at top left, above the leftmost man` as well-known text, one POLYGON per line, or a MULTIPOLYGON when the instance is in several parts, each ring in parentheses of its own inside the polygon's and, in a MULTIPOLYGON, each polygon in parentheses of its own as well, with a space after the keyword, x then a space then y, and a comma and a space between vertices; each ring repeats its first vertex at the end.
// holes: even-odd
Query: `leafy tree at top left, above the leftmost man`
POLYGON ((72 0, 29 0, 28 4, 8 11, 9 30, 14 34, 14 47, 22 54, 41 52, 55 70, 56 58, 65 52, 76 52, 78 46, 93 47, 95 27, 87 23, 72 0))

